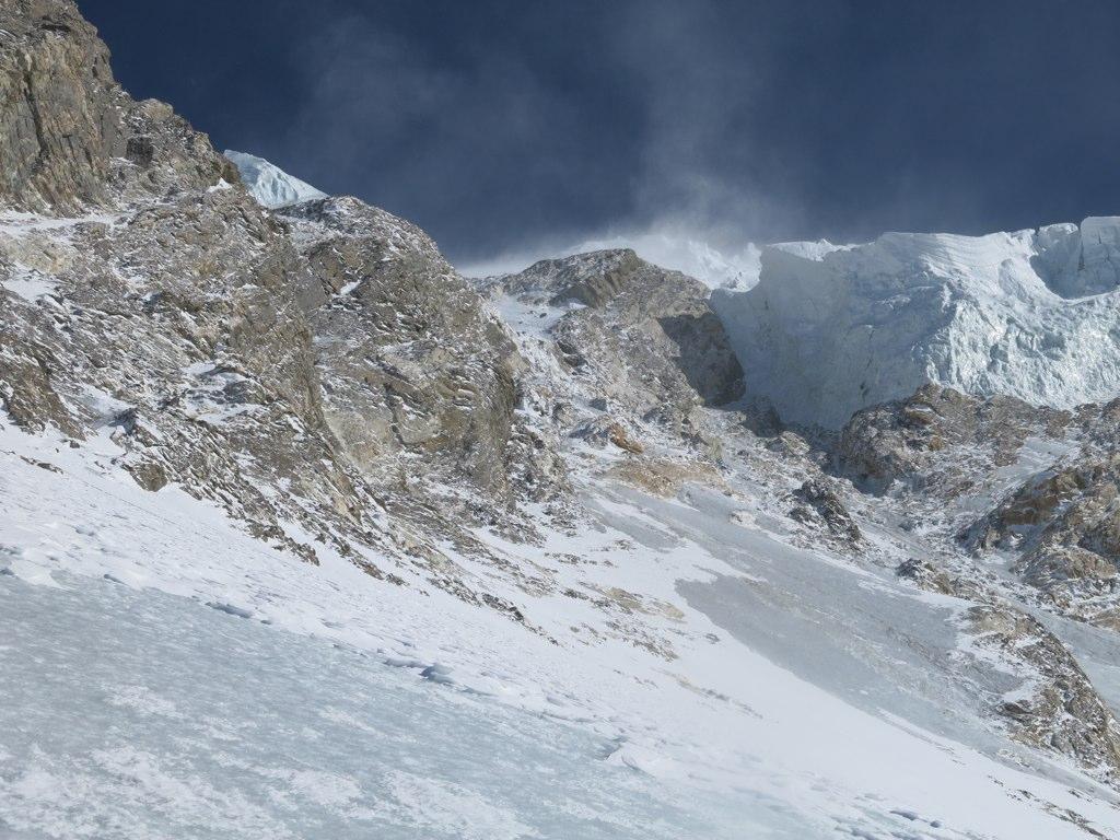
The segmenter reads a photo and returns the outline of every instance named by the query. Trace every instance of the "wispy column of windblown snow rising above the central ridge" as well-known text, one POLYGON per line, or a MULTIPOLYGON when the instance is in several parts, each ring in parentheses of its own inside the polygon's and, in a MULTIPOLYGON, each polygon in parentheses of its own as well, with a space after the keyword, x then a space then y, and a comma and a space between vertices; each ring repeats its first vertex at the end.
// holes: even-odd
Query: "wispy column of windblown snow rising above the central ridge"
POLYGON ((540 259, 632 248, 711 288, 752 288, 759 271, 755 242, 801 227, 799 209, 768 195, 756 177, 763 162, 753 162, 748 140, 749 103, 768 56, 758 50, 754 73, 727 60, 738 45, 721 32, 720 10, 703 3, 619 4, 604 25, 615 34, 612 49, 641 111, 625 207, 562 237, 530 236, 497 254, 460 260, 460 270, 500 274, 540 259), (743 177, 722 177, 729 169, 743 177))

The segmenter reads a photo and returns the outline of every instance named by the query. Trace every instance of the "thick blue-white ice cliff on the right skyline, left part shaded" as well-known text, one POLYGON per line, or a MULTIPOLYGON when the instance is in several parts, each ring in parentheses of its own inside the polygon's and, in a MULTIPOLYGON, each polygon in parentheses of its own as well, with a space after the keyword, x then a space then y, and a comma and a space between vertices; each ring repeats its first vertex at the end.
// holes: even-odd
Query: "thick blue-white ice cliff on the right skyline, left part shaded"
POLYGON ((987 236, 769 246, 716 290, 748 392, 838 427, 926 382, 1071 408, 1120 393, 1120 217, 987 236))

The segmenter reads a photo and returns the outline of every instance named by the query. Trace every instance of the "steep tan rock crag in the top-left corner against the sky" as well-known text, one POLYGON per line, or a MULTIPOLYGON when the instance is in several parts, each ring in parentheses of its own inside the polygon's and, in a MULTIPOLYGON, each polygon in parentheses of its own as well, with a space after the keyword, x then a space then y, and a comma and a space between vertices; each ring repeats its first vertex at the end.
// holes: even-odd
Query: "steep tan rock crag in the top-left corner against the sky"
POLYGON ((120 88, 69 0, 0 6, 0 199, 58 214, 237 177, 170 108, 120 88))

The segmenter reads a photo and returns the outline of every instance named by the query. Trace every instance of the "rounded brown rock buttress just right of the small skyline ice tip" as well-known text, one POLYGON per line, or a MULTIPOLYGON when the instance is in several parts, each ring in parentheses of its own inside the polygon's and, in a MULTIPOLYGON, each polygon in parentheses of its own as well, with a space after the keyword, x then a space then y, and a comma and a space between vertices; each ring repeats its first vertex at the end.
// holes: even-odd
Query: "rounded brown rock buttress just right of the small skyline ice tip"
POLYGON ((524 362, 474 289, 422 231, 356 199, 284 218, 320 287, 308 318, 324 410, 354 463, 399 484, 419 457, 433 475, 510 492, 511 461, 533 456, 513 445, 524 362))

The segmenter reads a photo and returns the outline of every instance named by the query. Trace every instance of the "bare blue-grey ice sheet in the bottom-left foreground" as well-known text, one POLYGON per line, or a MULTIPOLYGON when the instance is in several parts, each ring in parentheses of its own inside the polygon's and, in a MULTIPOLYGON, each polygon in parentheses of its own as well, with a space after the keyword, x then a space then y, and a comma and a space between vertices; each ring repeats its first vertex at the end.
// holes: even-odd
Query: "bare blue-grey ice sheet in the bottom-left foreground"
POLYGON ((736 837, 713 795, 586 730, 242 613, 60 582, 0 577, 6 839, 736 837))

